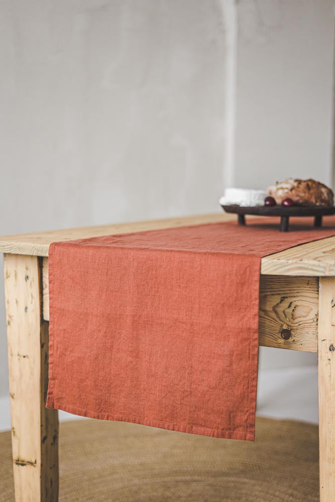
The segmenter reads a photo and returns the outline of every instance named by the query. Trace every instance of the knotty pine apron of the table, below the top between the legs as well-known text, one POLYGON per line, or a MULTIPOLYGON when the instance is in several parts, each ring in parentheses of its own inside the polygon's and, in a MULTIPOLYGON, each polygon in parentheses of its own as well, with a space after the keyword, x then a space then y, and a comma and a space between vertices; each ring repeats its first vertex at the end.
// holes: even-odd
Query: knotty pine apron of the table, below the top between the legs
MULTIPOLYGON (((317 352, 318 280, 261 276, 259 344, 317 352), (281 337, 283 329, 291 337, 281 337)), ((49 264, 43 258, 43 317, 49 320, 49 264)))

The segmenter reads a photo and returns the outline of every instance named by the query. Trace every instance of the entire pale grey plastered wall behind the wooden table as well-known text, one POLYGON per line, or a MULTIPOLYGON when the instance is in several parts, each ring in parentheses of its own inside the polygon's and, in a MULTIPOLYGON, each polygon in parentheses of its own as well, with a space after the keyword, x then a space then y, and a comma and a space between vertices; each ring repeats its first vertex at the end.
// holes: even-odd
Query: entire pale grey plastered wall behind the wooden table
MULTIPOLYGON (((237 2, 236 130, 228 2, 0 3, 0 234, 216 211, 227 138, 237 186, 329 182, 333 2, 237 2)), ((261 351, 262 367, 314 362, 261 351)))

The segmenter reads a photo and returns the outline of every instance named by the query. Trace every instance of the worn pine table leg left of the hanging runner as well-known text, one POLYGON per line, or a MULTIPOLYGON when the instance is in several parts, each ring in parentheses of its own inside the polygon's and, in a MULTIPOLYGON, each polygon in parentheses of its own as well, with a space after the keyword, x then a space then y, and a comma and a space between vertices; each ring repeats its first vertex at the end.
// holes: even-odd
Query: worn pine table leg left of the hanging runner
POLYGON ((45 408, 49 323, 42 319, 42 260, 5 255, 16 502, 58 500, 58 412, 45 408))

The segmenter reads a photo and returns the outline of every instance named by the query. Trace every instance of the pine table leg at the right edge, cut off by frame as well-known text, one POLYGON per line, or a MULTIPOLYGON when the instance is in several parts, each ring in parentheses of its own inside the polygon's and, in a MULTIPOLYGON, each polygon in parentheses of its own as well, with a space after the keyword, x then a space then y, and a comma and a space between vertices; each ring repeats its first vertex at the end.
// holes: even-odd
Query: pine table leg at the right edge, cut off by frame
POLYGON ((335 277, 319 279, 320 501, 335 502, 335 277))

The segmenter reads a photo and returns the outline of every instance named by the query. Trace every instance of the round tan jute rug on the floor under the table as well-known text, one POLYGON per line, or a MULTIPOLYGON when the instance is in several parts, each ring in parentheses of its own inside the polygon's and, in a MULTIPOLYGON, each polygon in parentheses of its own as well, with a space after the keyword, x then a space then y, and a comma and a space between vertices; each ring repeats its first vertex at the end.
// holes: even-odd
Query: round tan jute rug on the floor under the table
MULTIPOLYGON (((317 426, 258 418, 256 441, 95 420, 60 424, 60 502, 316 502, 317 426)), ((0 500, 12 502, 0 434, 0 500)))

